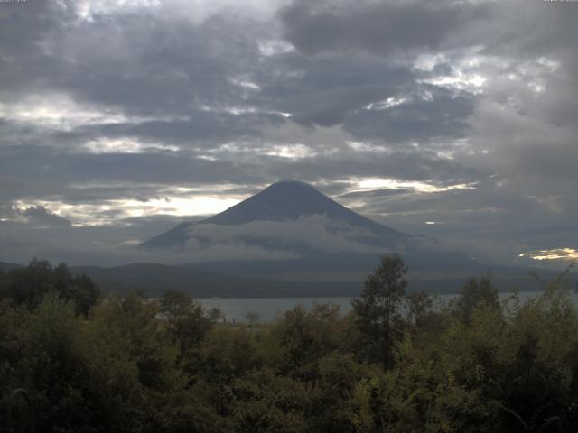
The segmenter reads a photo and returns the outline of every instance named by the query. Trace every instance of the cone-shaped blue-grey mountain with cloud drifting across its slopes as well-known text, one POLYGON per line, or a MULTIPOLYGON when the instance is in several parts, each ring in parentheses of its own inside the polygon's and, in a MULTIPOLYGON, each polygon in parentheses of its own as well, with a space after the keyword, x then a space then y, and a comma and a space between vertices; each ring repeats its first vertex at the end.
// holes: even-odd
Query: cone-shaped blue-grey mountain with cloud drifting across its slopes
POLYGON ((383 253, 400 253, 415 276, 480 272, 471 257, 378 224, 296 180, 277 182, 214 217, 182 223, 140 247, 186 252, 183 258, 211 248, 237 248, 232 258, 191 265, 290 281, 359 281, 383 253))

